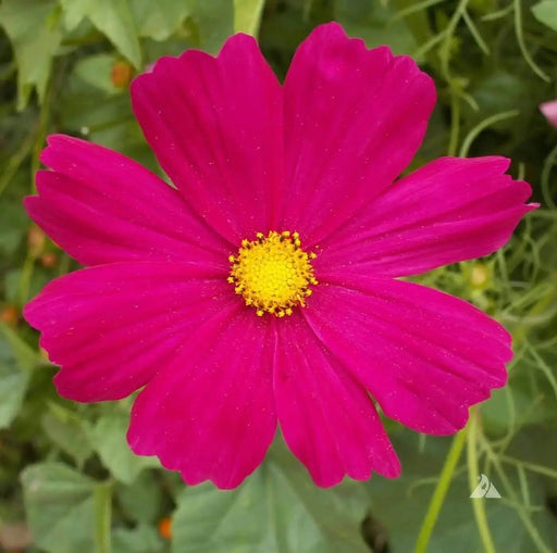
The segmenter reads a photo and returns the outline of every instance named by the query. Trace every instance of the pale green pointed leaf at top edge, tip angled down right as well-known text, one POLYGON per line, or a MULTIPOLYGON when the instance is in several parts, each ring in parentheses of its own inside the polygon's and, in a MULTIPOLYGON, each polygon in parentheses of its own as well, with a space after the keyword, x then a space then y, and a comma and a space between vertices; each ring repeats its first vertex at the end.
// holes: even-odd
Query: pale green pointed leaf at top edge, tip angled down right
POLYGON ((84 17, 99 29, 135 67, 141 66, 141 50, 127 0, 60 0, 67 28, 84 17))

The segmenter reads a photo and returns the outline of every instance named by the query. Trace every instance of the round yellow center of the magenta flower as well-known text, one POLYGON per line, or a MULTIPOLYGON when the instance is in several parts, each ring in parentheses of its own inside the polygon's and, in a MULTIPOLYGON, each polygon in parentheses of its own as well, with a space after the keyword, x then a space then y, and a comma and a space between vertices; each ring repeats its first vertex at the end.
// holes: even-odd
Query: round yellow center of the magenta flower
POLYGON ((318 284, 310 261, 315 254, 301 249, 298 232, 271 230, 267 237, 256 236, 256 240, 243 240, 238 254, 228 257, 228 282, 260 317, 264 313, 292 315, 296 305, 306 306, 309 286, 318 284))

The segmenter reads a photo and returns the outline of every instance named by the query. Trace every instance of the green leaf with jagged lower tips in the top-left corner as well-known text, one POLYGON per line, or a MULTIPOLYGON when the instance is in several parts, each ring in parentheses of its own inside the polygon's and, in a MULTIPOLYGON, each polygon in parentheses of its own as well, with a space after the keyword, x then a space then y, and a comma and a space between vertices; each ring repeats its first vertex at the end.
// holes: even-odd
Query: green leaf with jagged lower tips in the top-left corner
POLYGON ((23 110, 36 88, 45 99, 52 58, 62 34, 53 0, 3 0, 0 25, 12 42, 17 62, 17 110, 23 110))

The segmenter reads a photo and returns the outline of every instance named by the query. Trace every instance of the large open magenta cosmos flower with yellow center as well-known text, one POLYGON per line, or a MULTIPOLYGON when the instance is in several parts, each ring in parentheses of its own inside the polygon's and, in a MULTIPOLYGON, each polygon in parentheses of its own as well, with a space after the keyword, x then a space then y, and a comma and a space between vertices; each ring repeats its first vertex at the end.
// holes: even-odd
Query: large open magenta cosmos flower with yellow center
POLYGON ((503 386, 510 338, 469 303, 397 277, 488 254, 533 204, 504 158, 442 158, 395 180, 432 79, 337 24, 284 85, 256 41, 189 50, 135 79, 137 120, 175 185, 51 136, 33 219, 88 268, 25 310, 59 392, 135 401, 128 441, 188 483, 239 485, 280 425, 319 486, 400 473, 383 413, 462 428, 503 386))

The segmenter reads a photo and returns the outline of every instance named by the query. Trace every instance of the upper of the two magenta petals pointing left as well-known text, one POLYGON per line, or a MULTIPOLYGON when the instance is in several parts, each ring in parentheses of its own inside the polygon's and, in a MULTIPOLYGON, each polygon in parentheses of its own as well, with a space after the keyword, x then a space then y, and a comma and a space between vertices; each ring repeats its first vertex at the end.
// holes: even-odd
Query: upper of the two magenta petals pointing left
POLYGON ((85 265, 121 261, 221 263, 230 246, 182 196, 136 162, 77 138, 53 135, 37 173, 32 218, 85 265))

